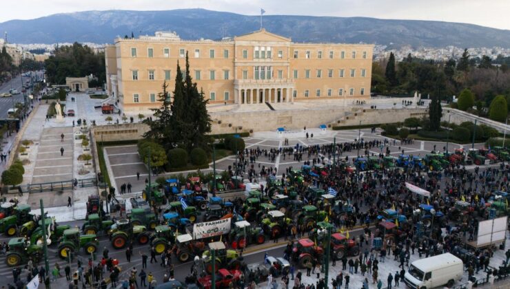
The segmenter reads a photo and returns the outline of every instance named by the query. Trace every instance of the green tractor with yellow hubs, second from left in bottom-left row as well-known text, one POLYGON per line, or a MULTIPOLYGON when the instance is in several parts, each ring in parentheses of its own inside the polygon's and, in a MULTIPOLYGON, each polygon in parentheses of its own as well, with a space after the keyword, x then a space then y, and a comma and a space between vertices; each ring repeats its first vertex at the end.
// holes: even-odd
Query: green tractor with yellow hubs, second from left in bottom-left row
POLYGON ((73 254, 81 248, 87 254, 96 253, 99 242, 96 235, 80 235, 78 228, 70 228, 63 232, 63 236, 59 242, 57 253, 62 259, 67 259, 68 254, 73 254))

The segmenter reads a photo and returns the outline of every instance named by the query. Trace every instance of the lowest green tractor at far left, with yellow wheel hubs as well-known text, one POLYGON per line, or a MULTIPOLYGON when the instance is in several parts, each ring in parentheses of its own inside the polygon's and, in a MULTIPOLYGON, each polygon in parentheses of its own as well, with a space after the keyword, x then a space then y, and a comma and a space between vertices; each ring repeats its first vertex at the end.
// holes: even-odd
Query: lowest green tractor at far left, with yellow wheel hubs
POLYGON ((29 258, 32 258, 35 265, 43 257, 43 246, 34 243, 29 244, 25 237, 10 239, 8 246, 6 264, 10 267, 26 264, 29 258))

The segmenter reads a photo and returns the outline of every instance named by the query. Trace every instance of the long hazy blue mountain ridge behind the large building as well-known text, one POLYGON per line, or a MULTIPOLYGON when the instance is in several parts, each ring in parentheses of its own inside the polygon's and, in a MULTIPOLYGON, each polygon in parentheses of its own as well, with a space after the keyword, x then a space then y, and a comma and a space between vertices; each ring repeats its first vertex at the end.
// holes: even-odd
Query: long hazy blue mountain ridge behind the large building
MULTIPOLYGON (((440 21, 267 15, 264 28, 296 42, 376 43, 400 47, 510 47, 510 30, 440 21)), ((260 28, 260 17, 203 9, 85 11, 0 23, 13 43, 113 43, 116 36, 176 31, 182 39, 221 39, 260 28)))

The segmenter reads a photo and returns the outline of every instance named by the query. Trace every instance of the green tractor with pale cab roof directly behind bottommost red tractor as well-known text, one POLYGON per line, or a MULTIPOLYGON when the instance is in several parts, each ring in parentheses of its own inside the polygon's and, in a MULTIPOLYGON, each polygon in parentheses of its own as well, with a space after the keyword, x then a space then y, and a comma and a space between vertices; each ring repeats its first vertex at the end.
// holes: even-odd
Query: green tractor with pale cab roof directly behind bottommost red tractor
POLYGON ((219 268, 227 268, 229 270, 239 270, 243 266, 243 261, 239 259, 236 250, 225 249, 223 242, 212 242, 208 244, 209 250, 205 250, 202 259, 205 264, 205 272, 212 273, 212 254, 211 250, 215 250, 215 270, 219 268))

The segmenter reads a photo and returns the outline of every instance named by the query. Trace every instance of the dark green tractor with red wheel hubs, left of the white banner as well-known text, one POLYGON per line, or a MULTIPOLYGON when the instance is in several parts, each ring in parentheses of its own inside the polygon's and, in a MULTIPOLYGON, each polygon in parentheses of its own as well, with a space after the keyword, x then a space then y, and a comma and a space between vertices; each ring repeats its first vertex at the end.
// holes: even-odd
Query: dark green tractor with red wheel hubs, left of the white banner
POLYGON ((108 231, 112 246, 117 250, 124 248, 128 240, 136 239, 139 244, 145 245, 149 242, 149 232, 145 226, 134 226, 130 220, 118 220, 112 224, 108 231))

